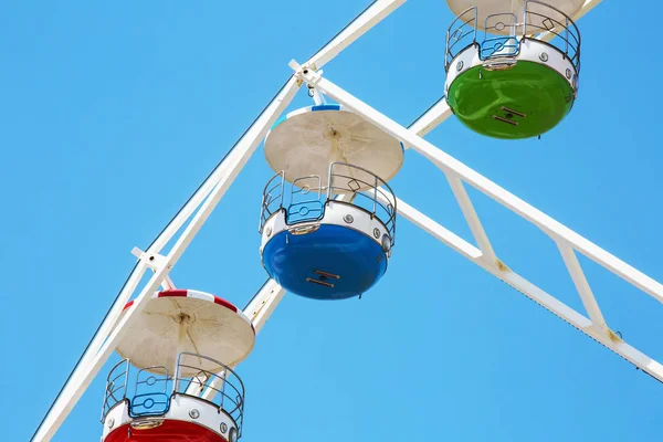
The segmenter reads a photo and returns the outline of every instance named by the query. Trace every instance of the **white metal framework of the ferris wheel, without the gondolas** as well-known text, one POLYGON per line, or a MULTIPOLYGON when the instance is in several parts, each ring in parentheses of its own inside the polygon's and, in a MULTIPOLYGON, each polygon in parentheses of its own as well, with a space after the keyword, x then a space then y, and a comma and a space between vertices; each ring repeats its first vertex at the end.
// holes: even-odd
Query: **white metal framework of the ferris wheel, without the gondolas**
MULTIPOLYGON (((198 233, 230 185, 240 173, 251 155, 255 151, 269 128, 286 109, 303 84, 306 84, 307 87, 314 87, 313 95, 316 103, 324 99, 320 94, 326 94, 348 109, 358 113, 376 126, 402 140, 407 148, 412 148, 436 165, 446 176, 453 194, 463 211, 478 246, 474 246, 461 239, 404 201, 398 200, 398 213, 402 218, 429 232, 432 236, 449 245, 452 250, 465 256, 467 260, 480 265, 488 273, 530 297, 555 315, 624 357, 654 378, 663 381, 663 366, 625 344, 610 330, 601 314, 599 305, 593 297, 585 274, 582 273, 576 252, 582 253, 660 302, 663 302, 663 285, 424 140, 422 138, 424 135, 451 116, 451 109, 443 98, 433 105, 408 129, 322 76, 323 72, 320 69, 326 63, 332 61, 344 49, 359 39, 392 11, 398 9, 404 1, 406 0, 376 0, 306 63, 298 65, 294 61, 291 62, 291 66, 295 71, 294 75, 242 136, 224 161, 203 182, 200 189, 187 202, 164 232, 159 234, 147 251, 143 252, 137 249, 134 250, 134 253, 138 256, 136 269, 127 280, 117 301, 110 308, 106 320, 102 324, 98 333, 95 335, 88 350, 83 356, 72 378, 64 387, 62 394, 57 398, 51 412, 39 428, 33 441, 45 442, 51 440, 87 386, 115 350, 117 343, 124 337, 127 325, 130 324, 136 315, 145 307, 149 299, 149 295, 157 291, 159 286, 167 288, 173 286, 172 281, 169 278, 170 270, 178 262, 193 236, 198 233), (464 187, 465 183, 473 186, 475 189, 482 191, 484 194, 535 224, 556 242, 589 317, 573 311, 550 294, 513 272, 497 257, 491 245, 490 239, 481 224, 480 218, 472 206, 472 201, 464 187), (176 236, 182 227, 185 229, 176 236), (165 245, 171 240, 175 240, 175 244, 167 253, 162 254, 161 252, 165 245), (135 298, 133 308, 120 319, 124 305, 134 295, 145 272, 148 270, 154 272, 152 276, 135 298)), ((587 0, 580 13, 573 17, 573 19, 578 20, 600 1, 601 0, 587 0)), ((552 35, 549 35, 549 38, 552 35)), ((252 320, 256 333, 262 329, 265 322, 283 298, 284 293, 285 291, 276 282, 270 280, 249 303, 244 313, 252 320)))

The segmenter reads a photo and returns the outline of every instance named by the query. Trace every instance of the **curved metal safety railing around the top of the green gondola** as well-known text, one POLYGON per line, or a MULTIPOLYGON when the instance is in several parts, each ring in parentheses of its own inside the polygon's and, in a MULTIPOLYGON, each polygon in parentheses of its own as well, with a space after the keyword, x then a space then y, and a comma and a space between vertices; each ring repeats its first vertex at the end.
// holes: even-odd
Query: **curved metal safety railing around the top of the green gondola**
POLYGON ((527 0, 520 17, 513 12, 487 15, 480 34, 478 8, 471 7, 460 13, 446 31, 444 69, 449 72, 452 61, 472 45, 478 46, 480 59, 485 61, 513 57, 519 53, 523 40, 543 41, 544 38, 580 72, 580 31, 561 10, 543 1, 527 0))

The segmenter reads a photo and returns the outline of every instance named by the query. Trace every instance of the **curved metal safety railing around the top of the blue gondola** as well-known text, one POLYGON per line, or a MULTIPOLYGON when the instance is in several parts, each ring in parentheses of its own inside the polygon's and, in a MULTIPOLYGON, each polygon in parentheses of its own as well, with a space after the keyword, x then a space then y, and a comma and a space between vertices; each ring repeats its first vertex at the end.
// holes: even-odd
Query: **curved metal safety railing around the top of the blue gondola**
POLYGON ((274 175, 265 185, 260 213, 259 232, 267 220, 283 211, 287 225, 319 221, 330 201, 360 208, 377 218, 396 240, 396 196, 389 185, 371 171, 346 162, 332 162, 326 186, 317 175, 301 177, 288 186, 284 172, 274 175), (345 196, 344 200, 337 199, 345 196), (382 197, 382 198, 378 198, 382 197), (382 203, 381 200, 388 201, 382 203))

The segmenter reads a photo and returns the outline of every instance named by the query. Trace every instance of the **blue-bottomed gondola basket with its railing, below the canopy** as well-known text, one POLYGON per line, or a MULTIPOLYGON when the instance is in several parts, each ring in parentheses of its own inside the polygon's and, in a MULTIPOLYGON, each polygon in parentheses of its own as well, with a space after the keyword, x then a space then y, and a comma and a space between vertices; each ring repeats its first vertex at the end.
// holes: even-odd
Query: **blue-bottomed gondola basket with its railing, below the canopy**
POLYGON ((396 197, 379 177, 348 164, 333 162, 325 179, 307 176, 290 186, 280 172, 265 186, 260 232, 263 265, 288 292, 358 296, 387 271, 396 197))

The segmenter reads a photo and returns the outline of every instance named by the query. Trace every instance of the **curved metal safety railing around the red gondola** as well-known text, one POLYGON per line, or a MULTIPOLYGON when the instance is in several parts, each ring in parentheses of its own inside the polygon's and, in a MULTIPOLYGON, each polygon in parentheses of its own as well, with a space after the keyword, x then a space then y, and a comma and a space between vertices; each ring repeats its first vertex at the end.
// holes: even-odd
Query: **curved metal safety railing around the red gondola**
POLYGON ((120 402, 128 403, 131 418, 165 415, 170 410, 170 398, 175 394, 213 404, 234 421, 238 435, 241 436, 244 383, 224 364, 192 352, 178 355, 175 377, 164 366, 138 369, 130 365, 129 359, 119 361, 106 378, 101 421, 104 423, 108 412, 120 402), (198 388, 191 389, 191 386, 198 388), (198 391, 199 394, 192 394, 191 391, 198 391))

